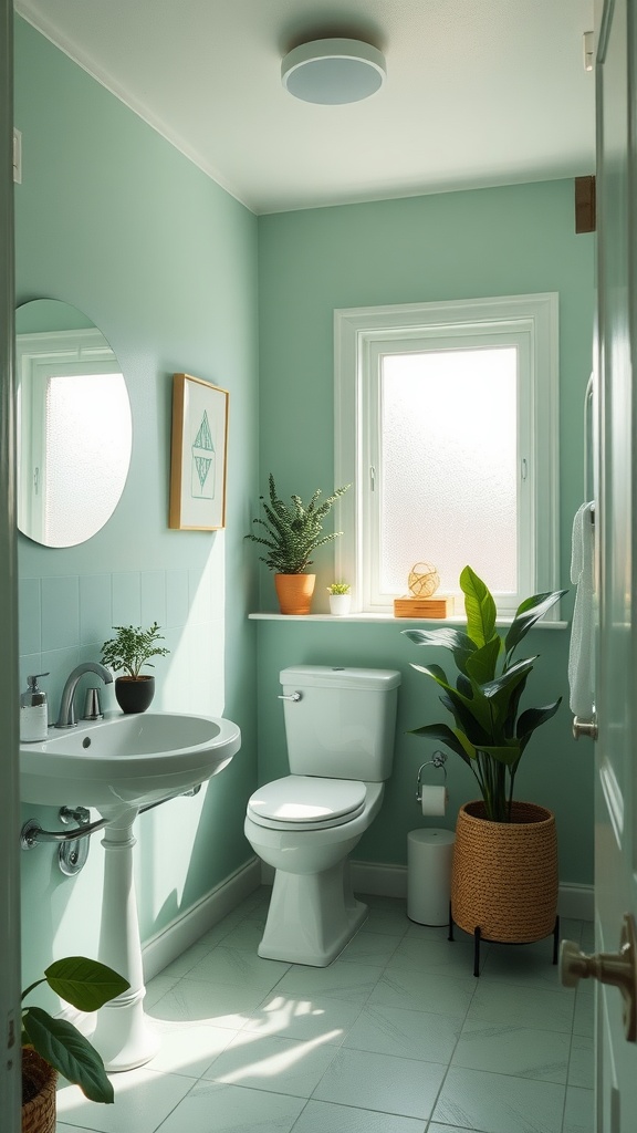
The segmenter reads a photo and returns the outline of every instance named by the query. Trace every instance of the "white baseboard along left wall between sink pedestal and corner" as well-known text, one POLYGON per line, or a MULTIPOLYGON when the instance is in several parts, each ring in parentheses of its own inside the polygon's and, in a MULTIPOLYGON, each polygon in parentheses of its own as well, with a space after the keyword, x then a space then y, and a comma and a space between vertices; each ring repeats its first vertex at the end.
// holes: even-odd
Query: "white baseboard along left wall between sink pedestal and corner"
POLYGON ((250 858, 196 905, 143 945, 144 979, 152 980, 261 885, 261 863, 250 858))

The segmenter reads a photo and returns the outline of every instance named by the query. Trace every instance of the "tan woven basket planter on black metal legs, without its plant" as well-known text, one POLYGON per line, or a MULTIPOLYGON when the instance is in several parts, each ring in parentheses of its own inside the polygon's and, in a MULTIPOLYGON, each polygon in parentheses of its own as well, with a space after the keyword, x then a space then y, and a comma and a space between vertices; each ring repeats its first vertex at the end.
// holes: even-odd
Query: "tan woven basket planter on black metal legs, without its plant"
POLYGON ((451 912, 465 932, 486 940, 529 944, 554 928, 558 910, 555 817, 532 802, 515 802, 512 823, 484 818, 483 802, 458 812, 451 876, 451 912))

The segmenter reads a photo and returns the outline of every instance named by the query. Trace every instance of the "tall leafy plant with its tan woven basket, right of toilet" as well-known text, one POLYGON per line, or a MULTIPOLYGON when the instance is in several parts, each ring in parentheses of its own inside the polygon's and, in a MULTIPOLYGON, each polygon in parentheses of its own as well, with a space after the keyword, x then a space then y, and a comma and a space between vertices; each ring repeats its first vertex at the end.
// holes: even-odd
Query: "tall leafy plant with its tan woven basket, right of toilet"
MULTIPOLYGON (((549 936, 557 923, 558 854, 554 815, 513 799, 520 759, 561 698, 521 710, 537 657, 516 659, 528 630, 566 594, 523 602, 502 639, 489 587, 465 566, 460 574, 466 631, 452 627, 402 630, 416 645, 450 650, 455 684, 439 665, 413 665, 442 689, 452 724, 425 724, 414 734, 442 741, 473 772, 481 799, 458 813, 451 880, 453 921, 492 940, 523 943, 549 936)), ((477 971, 476 971, 477 974, 477 971)))

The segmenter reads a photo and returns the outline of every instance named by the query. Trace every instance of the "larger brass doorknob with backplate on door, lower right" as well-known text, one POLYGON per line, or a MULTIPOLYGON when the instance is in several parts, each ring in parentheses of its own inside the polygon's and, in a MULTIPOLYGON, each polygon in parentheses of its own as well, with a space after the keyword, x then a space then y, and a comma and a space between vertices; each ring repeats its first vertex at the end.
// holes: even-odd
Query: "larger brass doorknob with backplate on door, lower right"
POLYGON ((637 931, 628 913, 623 918, 619 952, 597 952, 588 956, 574 940, 562 940, 560 979, 574 988, 579 980, 594 979, 619 988, 623 999, 623 1031, 629 1042, 637 1040, 637 931))

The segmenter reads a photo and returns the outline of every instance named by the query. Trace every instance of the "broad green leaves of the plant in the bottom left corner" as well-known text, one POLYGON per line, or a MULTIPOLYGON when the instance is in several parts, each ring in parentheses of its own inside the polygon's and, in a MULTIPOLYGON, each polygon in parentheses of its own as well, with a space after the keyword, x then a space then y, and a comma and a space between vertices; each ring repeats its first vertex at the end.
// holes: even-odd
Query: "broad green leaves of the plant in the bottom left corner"
MULTIPOLYGON (((86 1012, 97 1011, 130 987, 128 980, 111 968, 86 956, 53 961, 42 979, 23 991, 23 1002, 41 983, 48 983, 60 999, 86 1012)), ((91 1101, 113 1100, 113 1088, 101 1055, 73 1023, 53 1017, 42 1007, 23 1007, 22 1045, 33 1047, 44 1062, 69 1082, 75 1082, 91 1101)))

